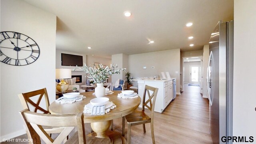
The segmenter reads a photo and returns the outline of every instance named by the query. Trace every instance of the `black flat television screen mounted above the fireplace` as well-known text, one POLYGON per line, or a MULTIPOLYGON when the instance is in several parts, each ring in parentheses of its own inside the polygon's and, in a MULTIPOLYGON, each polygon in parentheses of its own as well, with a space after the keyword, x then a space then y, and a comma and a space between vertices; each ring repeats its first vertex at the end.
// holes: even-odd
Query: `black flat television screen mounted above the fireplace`
POLYGON ((61 54, 62 66, 83 66, 83 56, 73 54, 61 54))

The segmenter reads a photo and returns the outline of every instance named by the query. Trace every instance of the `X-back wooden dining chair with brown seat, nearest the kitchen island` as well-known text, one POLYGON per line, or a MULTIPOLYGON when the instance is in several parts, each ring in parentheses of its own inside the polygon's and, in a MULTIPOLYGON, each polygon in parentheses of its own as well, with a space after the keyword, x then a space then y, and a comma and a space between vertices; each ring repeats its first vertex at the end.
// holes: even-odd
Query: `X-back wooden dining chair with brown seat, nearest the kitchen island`
POLYGON ((131 114, 123 117, 123 128, 122 128, 122 135, 124 136, 125 133, 125 121, 128 124, 128 132, 127 132, 127 143, 131 143, 131 127, 142 124, 144 133, 146 132, 145 124, 150 123, 151 127, 151 136, 152 142, 155 144, 154 138, 154 107, 156 102, 156 95, 158 92, 158 88, 154 88, 152 86, 145 85, 143 100, 142 100, 142 110, 135 110, 131 114), (151 91, 151 95, 150 95, 151 91), (146 100, 146 95, 148 95, 148 100, 146 100), (153 101, 152 101, 153 100, 153 101), (149 105, 148 105, 149 104, 149 105), (150 116, 148 116, 144 111, 145 107, 150 110, 150 116))

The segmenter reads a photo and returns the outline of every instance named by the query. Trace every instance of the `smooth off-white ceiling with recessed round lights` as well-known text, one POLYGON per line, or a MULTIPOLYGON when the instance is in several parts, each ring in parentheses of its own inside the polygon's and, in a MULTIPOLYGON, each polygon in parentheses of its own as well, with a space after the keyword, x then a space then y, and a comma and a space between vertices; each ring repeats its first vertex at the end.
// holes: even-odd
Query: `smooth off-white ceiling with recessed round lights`
POLYGON ((57 16, 56 49, 103 58, 202 50, 217 22, 234 17, 233 0, 24 1, 57 16), (124 16, 126 10, 132 12, 130 17, 124 16), (193 25, 186 27, 188 22, 193 25))

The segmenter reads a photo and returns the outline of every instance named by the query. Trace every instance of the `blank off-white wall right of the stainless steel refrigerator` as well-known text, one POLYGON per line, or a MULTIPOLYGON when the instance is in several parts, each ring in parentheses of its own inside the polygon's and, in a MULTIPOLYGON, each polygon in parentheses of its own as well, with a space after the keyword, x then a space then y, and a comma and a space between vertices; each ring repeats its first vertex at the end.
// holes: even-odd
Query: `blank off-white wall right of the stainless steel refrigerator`
POLYGON ((256 140, 256 0, 234 0, 233 136, 256 140))

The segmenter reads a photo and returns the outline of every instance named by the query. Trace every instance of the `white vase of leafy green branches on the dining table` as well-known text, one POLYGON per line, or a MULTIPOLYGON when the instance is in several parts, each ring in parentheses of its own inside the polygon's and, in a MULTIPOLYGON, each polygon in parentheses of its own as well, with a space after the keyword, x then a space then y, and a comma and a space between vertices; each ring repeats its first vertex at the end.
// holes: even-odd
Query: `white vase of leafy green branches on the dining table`
MULTIPOLYGON (((86 72, 86 77, 93 80, 93 82, 96 82, 97 87, 95 88, 95 96, 96 97, 103 97, 105 96, 105 87, 103 86, 103 82, 106 82, 106 79, 109 78, 112 74, 120 74, 121 68, 117 67, 116 65, 110 65, 110 67, 106 66, 103 68, 102 64, 92 64, 89 67, 84 64, 82 68, 78 68, 76 66, 76 69, 80 69, 84 72, 86 72)), ((126 68, 123 68, 122 70, 126 70, 126 68)))

